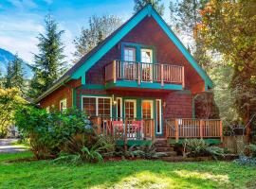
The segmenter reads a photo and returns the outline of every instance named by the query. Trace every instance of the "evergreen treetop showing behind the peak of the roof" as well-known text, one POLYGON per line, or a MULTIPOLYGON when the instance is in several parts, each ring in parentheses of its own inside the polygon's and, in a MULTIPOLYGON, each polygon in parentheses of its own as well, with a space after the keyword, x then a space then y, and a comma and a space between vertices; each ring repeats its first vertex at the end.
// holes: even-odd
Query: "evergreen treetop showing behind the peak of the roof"
POLYGON ((134 6, 135 13, 149 3, 152 4, 152 6, 156 9, 156 11, 161 16, 164 13, 164 4, 161 4, 161 0, 134 0, 134 2, 135 2, 135 6, 134 6))

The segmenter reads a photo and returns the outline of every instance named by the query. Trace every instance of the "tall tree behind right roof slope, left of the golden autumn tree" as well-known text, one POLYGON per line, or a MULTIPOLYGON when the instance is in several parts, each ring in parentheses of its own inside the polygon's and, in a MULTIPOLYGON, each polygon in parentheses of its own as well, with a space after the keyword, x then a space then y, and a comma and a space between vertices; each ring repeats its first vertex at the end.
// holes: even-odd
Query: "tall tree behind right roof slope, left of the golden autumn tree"
POLYGON ((197 25, 202 23, 200 14, 209 0, 180 0, 170 1, 171 26, 178 33, 185 36, 192 46, 192 54, 195 60, 207 71, 210 70, 210 56, 204 45, 204 39, 198 35, 197 25))

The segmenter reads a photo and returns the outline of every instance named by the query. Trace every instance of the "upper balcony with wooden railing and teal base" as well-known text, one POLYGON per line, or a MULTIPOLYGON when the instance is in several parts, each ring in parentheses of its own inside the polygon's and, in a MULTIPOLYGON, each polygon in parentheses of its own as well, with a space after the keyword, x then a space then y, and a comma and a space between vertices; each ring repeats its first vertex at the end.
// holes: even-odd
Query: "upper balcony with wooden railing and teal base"
POLYGON ((184 66, 113 60, 104 69, 107 89, 182 90, 185 86, 184 66))

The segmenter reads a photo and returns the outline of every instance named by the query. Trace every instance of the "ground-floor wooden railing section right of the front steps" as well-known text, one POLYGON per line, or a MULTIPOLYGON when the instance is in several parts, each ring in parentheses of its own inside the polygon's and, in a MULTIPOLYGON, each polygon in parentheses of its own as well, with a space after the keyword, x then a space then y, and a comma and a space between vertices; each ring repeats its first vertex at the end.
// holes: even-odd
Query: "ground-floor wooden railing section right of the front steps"
POLYGON ((166 137, 174 138, 220 138, 222 121, 216 119, 166 119, 166 137))

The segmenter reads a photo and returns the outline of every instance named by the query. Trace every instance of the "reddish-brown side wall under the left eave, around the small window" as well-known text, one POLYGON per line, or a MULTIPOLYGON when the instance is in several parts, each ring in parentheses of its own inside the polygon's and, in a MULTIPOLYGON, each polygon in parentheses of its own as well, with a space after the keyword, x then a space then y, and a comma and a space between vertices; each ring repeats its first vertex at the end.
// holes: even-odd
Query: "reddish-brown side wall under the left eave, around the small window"
POLYGON ((81 85, 81 81, 79 80, 71 80, 67 82, 64 86, 60 87, 58 90, 53 93, 47 95, 43 98, 39 103, 42 108, 52 107, 54 106, 56 109, 60 109, 60 101, 66 98, 66 107, 72 107, 72 88, 78 87, 81 85))

